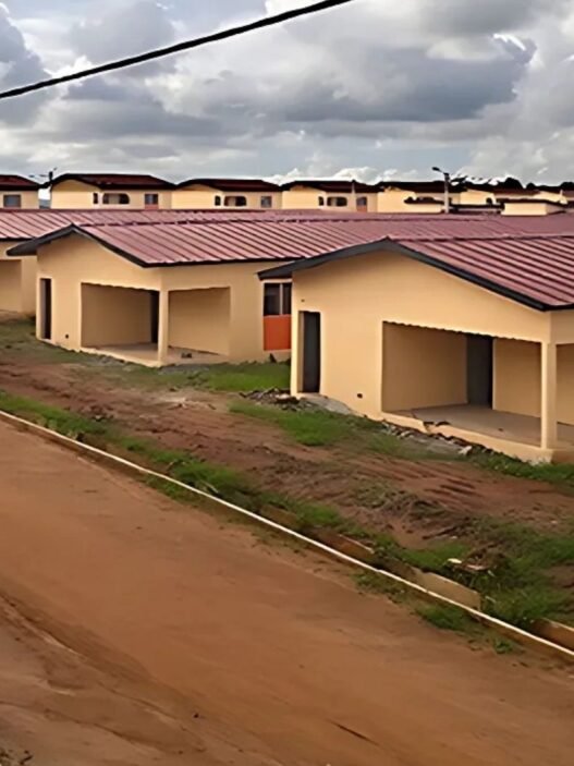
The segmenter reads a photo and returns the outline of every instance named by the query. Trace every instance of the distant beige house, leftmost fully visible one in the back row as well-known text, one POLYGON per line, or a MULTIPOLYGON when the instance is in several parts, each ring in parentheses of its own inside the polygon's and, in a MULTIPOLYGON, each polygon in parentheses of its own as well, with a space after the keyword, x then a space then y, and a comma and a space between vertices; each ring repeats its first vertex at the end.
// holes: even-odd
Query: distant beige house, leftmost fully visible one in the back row
POLYGON ((59 210, 169 209, 173 189, 155 175, 127 173, 63 173, 45 185, 59 210))

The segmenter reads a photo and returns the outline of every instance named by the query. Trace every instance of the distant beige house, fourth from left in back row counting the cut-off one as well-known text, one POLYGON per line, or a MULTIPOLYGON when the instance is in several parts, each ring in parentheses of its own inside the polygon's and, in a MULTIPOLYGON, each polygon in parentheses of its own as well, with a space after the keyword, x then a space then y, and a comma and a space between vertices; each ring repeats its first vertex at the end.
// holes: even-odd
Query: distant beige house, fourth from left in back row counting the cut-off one
POLYGON ((290 181, 281 189, 283 210, 377 211, 377 186, 359 181, 290 181))

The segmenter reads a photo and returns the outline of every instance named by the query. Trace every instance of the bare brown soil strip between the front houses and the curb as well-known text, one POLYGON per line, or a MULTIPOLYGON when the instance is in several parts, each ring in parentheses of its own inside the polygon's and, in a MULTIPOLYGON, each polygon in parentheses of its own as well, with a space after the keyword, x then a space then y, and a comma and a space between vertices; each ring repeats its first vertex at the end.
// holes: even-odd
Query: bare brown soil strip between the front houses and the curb
POLYGON ((464 531, 473 515, 542 530, 572 523, 574 498, 550 485, 463 462, 303 447, 273 426, 230 414, 223 394, 129 390, 106 380, 105 367, 37 364, 25 355, 0 362, 0 388, 86 415, 106 414, 136 435, 249 472, 267 488, 333 504, 371 527, 392 531, 404 545, 425 545, 444 530, 464 531), (380 506, 364 498, 365 488, 377 487, 380 506))

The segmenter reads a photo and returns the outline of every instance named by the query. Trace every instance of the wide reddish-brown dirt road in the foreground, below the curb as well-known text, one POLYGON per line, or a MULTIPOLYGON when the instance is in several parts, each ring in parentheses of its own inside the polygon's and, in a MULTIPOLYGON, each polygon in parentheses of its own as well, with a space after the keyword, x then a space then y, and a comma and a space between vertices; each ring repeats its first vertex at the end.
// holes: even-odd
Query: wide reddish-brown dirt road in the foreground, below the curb
POLYGON ((566 671, 473 652, 331 563, 34 436, 1 425, 0 443, 14 764, 572 763, 566 671))

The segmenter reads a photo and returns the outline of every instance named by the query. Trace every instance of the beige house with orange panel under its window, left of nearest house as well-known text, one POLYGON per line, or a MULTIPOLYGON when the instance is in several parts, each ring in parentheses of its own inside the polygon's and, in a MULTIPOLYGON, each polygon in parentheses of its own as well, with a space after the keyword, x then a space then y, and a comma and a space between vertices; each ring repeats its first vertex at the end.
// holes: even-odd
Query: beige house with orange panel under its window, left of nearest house
POLYGON ((258 271, 321 253, 325 242, 364 242, 377 227, 370 221, 357 239, 349 217, 325 230, 320 215, 74 215, 10 251, 37 259, 38 338, 150 366, 288 356, 291 280, 264 287, 258 271))

